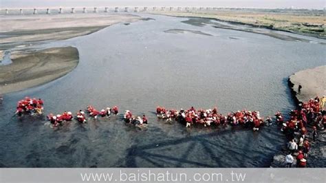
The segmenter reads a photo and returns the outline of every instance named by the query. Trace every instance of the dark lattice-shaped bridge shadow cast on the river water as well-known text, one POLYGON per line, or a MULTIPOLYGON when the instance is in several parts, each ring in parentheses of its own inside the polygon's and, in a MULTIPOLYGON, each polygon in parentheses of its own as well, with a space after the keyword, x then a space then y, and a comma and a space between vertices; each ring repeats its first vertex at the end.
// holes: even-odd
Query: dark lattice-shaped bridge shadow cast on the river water
MULTIPOLYGON (((274 129, 271 129, 274 130, 274 129)), ((248 154, 243 153, 243 147, 233 146, 232 138, 230 141, 224 139, 224 136, 232 136, 232 133, 252 133, 248 129, 224 129, 222 131, 214 131, 206 134, 199 134, 195 136, 183 136, 181 138, 175 138, 173 140, 162 140, 154 143, 149 143, 145 145, 133 145, 127 149, 127 156, 125 167, 143 167, 144 164, 152 164, 151 166, 155 167, 227 167, 232 164, 232 162, 226 162, 226 157, 223 152, 234 155, 235 157, 248 158, 252 154, 261 154, 261 150, 253 150, 254 142, 252 142, 252 136, 246 136, 243 138, 248 138, 245 140, 243 147, 248 149, 248 154), (215 140, 223 136, 222 140, 215 140), (167 149, 167 150, 166 150, 167 149), (175 150, 177 149, 177 151, 175 150), (196 151, 200 149, 201 158, 197 156, 196 151), (223 151, 220 151, 223 149, 223 151), (241 150, 242 149, 242 150, 241 150), (174 153, 169 153, 169 151, 174 151, 174 153), (204 158, 204 159, 202 159, 204 158), (141 162, 140 164, 138 162, 141 162), (144 163, 145 162, 145 163, 144 163), (230 164, 229 164, 230 163, 230 164)), ((253 136, 261 136, 260 133, 253 133, 253 136)), ((264 136, 265 138, 270 138, 270 136, 264 136)), ((270 139, 273 140, 273 139, 270 139)), ((261 140, 259 140, 261 142, 261 140)), ((279 140, 276 140, 279 141, 279 140)), ((265 147, 262 149, 264 153, 268 153, 268 156, 271 157, 273 153, 270 151, 275 151, 275 147, 265 147)), ((276 147, 280 149, 281 147, 276 147)), ((237 165, 234 167, 246 167, 252 166, 253 164, 248 164, 248 162, 238 158, 234 159, 237 161, 237 165)), ((270 159, 265 160, 263 164, 258 163, 258 166, 269 166, 270 159)))

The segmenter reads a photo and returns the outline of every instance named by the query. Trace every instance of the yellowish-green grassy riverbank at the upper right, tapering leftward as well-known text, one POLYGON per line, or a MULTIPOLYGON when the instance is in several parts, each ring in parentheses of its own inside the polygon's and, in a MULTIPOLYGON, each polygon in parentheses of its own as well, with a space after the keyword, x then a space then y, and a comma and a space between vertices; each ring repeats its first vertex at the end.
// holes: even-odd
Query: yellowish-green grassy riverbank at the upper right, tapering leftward
POLYGON ((268 28, 326 39, 323 10, 264 10, 220 8, 218 10, 152 11, 175 17, 202 17, 256 28, 268 28))

